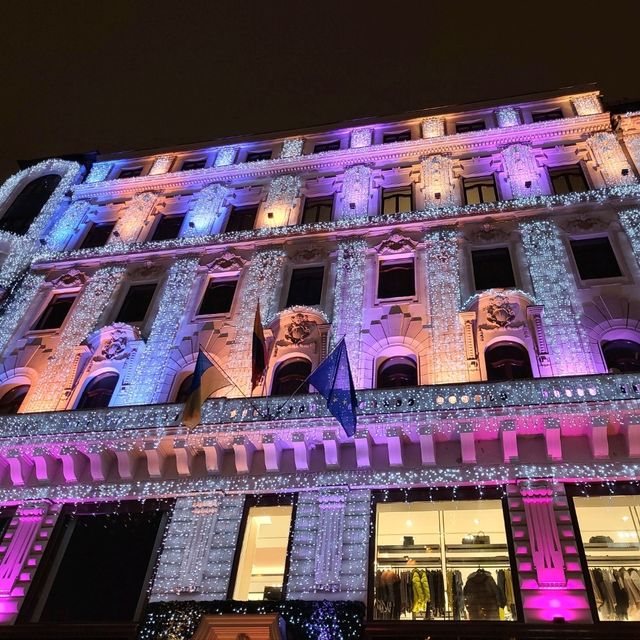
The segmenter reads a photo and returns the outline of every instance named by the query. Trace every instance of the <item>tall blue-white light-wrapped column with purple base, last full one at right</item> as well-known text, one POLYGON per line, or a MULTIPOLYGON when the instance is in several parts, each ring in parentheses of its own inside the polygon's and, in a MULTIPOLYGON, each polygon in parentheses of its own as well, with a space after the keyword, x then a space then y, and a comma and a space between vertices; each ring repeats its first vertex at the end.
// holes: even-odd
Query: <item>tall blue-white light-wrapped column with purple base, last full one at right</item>
POLYGON ((566 248, 555 222, 532 220, 519 227, 536 302, 544 306, 542 322, 551 355, 551 374, 596 373, 566 248))

